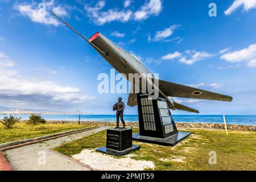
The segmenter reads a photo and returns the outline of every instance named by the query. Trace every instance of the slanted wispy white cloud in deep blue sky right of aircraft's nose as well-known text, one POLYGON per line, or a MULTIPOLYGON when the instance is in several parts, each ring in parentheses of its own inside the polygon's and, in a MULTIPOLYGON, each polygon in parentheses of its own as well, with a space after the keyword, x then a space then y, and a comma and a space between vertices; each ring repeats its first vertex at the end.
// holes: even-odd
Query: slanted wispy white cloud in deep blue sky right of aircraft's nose
POLYGON ((155 33, 155 37, 151 38, 150 35, 148 35, 148 41, 152 41, 152 42, 159 42, 162 41, 166 38, 168 38, 169 36, 171 36, 174 33, 174 30, 177 29, 177 27, 179 27, 178 24, 174 24, 168 28, 164 28, 164 30, 162 31, 157 31, 155 33))

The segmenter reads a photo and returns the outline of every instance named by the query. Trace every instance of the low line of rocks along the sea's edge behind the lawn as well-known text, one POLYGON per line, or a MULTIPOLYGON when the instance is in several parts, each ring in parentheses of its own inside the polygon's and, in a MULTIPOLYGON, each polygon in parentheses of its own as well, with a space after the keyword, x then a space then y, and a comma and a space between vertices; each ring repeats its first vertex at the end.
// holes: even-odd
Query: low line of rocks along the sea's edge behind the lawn
MULTIPOLYGON (((21 122, 27 122, 23 120, 21 122)), ((78 121, 47 121, 47 123, 73 123, 77 124, 78 121)), ((96 126, 115 126, 115 122, 110 121, 81 121, 82 124, 96 125, 96 126)), ((179 128, 192 128, 192 129, 220 129, 224 130, 224 124, 220 123, 181 123, 175 122, 176 126, 179 128)), ((127 126, 138 127, 138 122, 126 122, 127 126)), ((256 131, 256 126, 249 125, 227 125, 228 130, 240 130, 240 131, 256 131)))

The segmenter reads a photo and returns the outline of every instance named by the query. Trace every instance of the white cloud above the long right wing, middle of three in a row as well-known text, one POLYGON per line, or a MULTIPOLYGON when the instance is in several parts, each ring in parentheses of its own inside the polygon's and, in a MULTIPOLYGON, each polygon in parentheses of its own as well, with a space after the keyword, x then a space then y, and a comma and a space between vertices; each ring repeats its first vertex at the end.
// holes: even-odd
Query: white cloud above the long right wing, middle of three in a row
POLYGON ((183 57, 181 57, 181 59, 179 60, 180 63, 184 63, 184 64, 188 64, 188 65, 192 65, 194 63, 196 63, 197 61, 206 59, 208 57, 212 57, 214 56, 211 53, 208 52, 204 52, 204 51, 191 51, 191 50, 187 50, 185 51, 185 55, 183 57))

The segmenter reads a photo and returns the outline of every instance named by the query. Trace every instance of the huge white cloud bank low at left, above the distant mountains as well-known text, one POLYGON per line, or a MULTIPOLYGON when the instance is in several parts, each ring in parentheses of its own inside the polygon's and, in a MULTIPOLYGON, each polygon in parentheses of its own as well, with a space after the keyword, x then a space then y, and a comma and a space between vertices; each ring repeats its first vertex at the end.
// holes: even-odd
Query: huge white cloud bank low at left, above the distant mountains
POLYGON ((0 102, 20 105, 58 106, 81 104, 91 97, 79 88, 61 86, 52 81, 27 79, 16 72, 14 62, 0 53, 0 102))

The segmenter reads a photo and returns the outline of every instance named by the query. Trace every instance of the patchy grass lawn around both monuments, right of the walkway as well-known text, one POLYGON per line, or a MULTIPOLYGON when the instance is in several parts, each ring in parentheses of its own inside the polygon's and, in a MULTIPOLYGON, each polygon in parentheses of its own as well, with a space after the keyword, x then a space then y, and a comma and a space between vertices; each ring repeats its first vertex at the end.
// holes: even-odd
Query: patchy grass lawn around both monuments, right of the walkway
MULTIPOLYGON (((256 170, 256 132, 188 129, 191 137, 175 147, 139 144, 132 159, 154 162, 153 170, 256 170), (209 164, 209 152, 217 154, 217 164, 209 164)), ((134 132, 138 132, 135 129, 134 132)), ((67 156, 79 154, 83 149, 106 145, 106 131, 55 148, 67 156)))

